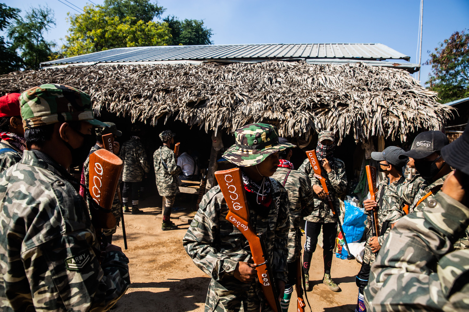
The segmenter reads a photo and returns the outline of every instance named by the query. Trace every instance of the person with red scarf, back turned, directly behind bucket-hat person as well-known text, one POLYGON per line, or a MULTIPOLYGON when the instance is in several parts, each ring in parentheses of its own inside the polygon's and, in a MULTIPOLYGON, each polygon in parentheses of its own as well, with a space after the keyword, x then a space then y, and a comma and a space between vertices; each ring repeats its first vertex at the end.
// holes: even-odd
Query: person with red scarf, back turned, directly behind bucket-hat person
MULTIPOLYGON (((280 143, 288 143, 285 138, 279 138, 280 143)), ((288 212, 290 216, 290 231, 288 232, 288 276, 285 284, 285 293, 280 305, 283 312, 288 311, 288 305, 293 292, 293 285, 300 283, 296 281, 298 261, 301 259, 301 230, 300 223, 304 217, 309 216, 314 208, 314 198, 311 191, 311 180, 302 172, 295 170, 290 158, 293 149, 288 148, 279 152, 277 171, 272 179, 279 182, 288 192, 288 212)), ((298 291, 298 290, 297 290, 298 291)))

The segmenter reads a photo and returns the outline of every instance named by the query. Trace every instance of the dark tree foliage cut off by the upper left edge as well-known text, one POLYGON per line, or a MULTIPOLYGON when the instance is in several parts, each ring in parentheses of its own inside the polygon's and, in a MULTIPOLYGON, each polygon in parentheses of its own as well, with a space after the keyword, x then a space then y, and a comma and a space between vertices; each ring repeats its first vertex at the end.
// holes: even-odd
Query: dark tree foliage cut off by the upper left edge
MULTIPOLYGON (((20 12, 20 9, 8 7, 6 4, 0 3, 0 31, 10 26, 10 20, 18 18, 18 13, 20 12)), ((11 47, 11 44, 5 41, 3 36, 0 36, 0 56, 0 74, 20 69, 21 58, 15 49, 11 47)))

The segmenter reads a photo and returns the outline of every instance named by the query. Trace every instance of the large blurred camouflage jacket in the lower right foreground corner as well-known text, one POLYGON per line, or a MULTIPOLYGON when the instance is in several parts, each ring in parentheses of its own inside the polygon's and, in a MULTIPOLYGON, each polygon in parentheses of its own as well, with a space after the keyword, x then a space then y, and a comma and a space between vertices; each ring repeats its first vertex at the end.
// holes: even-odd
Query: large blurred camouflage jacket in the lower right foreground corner
POLYGON ((469 250, 453 249, 468 224, 468 207, 442 192, 402 218, 371 267, 367 310, 468 311, 469 250))

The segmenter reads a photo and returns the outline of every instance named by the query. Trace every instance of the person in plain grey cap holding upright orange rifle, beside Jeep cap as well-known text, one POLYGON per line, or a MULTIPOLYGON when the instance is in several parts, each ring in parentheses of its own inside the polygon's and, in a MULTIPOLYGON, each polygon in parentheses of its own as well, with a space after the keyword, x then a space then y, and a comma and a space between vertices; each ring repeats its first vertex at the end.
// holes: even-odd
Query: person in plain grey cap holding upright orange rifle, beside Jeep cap
MULTIPOLYGON (((383 152, 371 152, 371 158, 379 161, 378 171, 384 172, 386 174, 386 179, 379 183, 376 196, 377 201, 372 201, 371 199, 365 199, 363 201, 363 206, 366 210, 365 212, 372 213, 372 210, 378 210, 378 220, 376 221, 378 222, 378 228, 380 232, 378 233, 378 236, 370 235, 365 244, 362 267, 356 276, 356 285, 358 286, 358 301, 355 312, 366 311, 365 305, 363 303, 363 289, 368 284, 368 276, 370 275, 371 264, 373 261, 375 261, 375 254, 378 253, 379 248, 381 248, 384 240, 391 230, 389 223, 395 219, 401 218, 400 215, 396 216, 394 214, 389 214, 389 211, 383 210, 382 206, 386 198, 386 190, 395 188, 397 185, 405 181, 405 177, 402 174, 402 167, 404 167, 407 163, 407 158, 403 160, 399 159, 399 155, 403 153, 404 150, 397 146, 386 147, 383 152)), ((368 218, 370 219, 370 216, 368 218)), ((371 224, 371 222, 368 222, 368 224, 371 224)))

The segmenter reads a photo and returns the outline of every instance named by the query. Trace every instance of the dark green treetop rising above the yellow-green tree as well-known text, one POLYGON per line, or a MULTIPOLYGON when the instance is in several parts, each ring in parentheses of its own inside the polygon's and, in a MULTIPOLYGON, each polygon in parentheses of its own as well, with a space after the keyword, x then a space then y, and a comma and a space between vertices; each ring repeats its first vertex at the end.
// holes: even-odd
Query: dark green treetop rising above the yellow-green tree
POLYGON ((134 22, 150 22, 153 18, 159 18, 165 8, 158 3, 152 4, 150 0, 104 0, 103 9, 108 16, 117 16, 123 20, 127 16, 135 17, 134 22))

